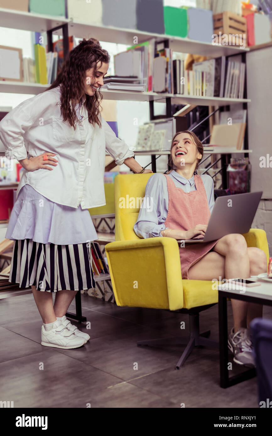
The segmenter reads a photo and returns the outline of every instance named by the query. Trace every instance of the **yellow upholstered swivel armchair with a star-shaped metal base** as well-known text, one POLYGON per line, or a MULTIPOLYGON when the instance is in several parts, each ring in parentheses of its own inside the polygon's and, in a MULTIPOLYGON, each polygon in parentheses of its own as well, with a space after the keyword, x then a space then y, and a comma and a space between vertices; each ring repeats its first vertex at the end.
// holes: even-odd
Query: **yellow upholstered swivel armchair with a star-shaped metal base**
MULTIPOLYGON (((178 310, 189 314, 189 336, 138 341, 138 345, 183 344, 186 349, 176 364, 179 369, 193 347, 218 347, 200 334, 199 313, 218 302, 210 280, 184 280, 179 245, 174 238, 139 238, 133 229, 145 185, 152 174, 120 174, 114 179, 115 242, 105 245, 111 282, 118 306, 178 310)), ((248 246, 259 247, 269 258, 265 232, 251 229, 244 237, 248 246)))

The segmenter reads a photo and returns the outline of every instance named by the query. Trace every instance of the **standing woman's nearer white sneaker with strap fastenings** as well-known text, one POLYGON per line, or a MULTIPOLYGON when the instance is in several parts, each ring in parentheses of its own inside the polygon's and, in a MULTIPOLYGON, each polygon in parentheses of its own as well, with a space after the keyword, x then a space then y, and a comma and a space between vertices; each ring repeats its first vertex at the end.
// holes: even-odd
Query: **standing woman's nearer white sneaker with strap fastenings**
POLYGON ((69 328, 62 324, 61 320, 56 320, 51 330, 45 330, 41 326, 41 345, 55 348, 78 348, 86 344, 84 337, 78 337, 69 328))

